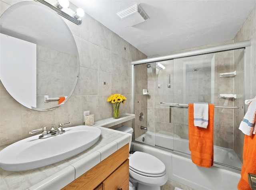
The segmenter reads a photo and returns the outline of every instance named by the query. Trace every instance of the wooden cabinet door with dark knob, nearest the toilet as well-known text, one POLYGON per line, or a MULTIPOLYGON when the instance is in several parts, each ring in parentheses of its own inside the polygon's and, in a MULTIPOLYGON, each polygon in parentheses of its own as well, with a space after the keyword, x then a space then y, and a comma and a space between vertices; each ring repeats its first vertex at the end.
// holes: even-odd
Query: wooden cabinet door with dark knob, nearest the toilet
POLYGON ((129 160, 119 166, 102 184, 103 190, 129 190, 129 160))

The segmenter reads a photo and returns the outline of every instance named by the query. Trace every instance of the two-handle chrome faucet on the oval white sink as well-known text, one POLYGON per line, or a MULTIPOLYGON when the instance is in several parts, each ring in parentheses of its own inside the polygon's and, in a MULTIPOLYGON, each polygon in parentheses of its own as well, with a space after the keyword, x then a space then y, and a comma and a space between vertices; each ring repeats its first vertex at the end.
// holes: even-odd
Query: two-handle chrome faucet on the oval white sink
POLYGON ((63 130, 63 125, 70 124, 70 123, 71 123, 70 121, 68 121, 66 123, 60 123, 59 127, 57 129, 55 129, 54 125, 52 125, 52 128, 49 131, 47 131, 46 127, 43 127, 42 129, 36 129, 36 130, 30 131, 29 134, 34 134, 34 133, 37 133, 39 131, 43 131, 42 135, 40 135, 38 137, 39 139, 46 139, 48 137, 61 135, 61 134, 65 133, 65 130, 63 130))

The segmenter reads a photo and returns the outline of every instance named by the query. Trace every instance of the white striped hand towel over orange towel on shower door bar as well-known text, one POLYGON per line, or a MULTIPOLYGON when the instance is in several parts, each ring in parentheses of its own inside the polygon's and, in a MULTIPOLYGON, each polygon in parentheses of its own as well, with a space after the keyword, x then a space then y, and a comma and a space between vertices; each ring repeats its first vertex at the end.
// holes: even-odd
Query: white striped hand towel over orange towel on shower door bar
POLYGON ((194 125, 207 128, 209 117, 208 103, 194 103, 194 125))

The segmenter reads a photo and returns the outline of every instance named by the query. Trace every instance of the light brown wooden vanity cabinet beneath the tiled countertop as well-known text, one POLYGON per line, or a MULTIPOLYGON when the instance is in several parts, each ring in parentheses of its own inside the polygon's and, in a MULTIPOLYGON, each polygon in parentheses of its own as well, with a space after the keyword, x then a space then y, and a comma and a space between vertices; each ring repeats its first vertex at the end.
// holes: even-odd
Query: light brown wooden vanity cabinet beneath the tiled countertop
POLYGON ((129 144, 82 174, 62 190, 128 190, 129 144))

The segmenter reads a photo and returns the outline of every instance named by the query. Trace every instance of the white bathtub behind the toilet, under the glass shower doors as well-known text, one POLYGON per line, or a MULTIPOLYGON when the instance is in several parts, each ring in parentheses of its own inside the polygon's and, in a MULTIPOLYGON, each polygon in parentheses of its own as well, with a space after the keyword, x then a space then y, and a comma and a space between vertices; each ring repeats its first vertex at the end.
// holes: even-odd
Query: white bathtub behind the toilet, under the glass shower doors
MULTIPOLYGON (((148 131, 138 137, 136 141, 132 142, 131 150, 154 155, 166 165, 169 180, 174 180, 196 190, 236 190, 236 186, 240 180, 239 170, 232 168, 226 169, 226 167, 222 167, 216 163, 211 168, 196 166, 192 163, 190 156, 186 155, 190 154, 188 140, 186 139, 180 139, 178 137, 171 138, 167 135, 155 134, 148 131), (143 138, 144 142, 142 141, 143 138), (166 147, 167 144, 170 147, 166 147), (165 147, 165 149, 155 147, 155 145, 165 147), (174 151, 166 150, 172 150, 173 146, 175 146, 175 149, 179 148, 178 150, 185 154, 181 155, 174 151)), ((228 157, 234 159, 235 155, 230 150, 214 146, 214 162, 218 159, 218 162, 223 162, 228 157)))

